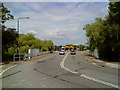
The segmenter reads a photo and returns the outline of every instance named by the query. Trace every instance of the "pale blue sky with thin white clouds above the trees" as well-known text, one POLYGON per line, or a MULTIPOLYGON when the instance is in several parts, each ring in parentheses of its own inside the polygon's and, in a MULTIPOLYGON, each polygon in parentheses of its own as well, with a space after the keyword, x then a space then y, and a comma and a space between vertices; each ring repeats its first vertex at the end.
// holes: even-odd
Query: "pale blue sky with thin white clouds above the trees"
POLYGON ((95 22, 96 17, 108 14, 108 2, 5 2, 14 20, 5 23, 20 33, 34 33, 41 40, 52 40, 55 45, 86 44, 85 24, 95 22))

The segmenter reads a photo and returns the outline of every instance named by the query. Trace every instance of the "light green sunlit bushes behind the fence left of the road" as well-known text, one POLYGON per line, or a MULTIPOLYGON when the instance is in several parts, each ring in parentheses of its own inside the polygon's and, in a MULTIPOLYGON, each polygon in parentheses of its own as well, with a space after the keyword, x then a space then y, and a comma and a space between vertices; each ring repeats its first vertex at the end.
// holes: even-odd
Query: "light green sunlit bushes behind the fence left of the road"
MULTIPOLYGON (((11 39, 12 40, 12 39, 11 39)), ((54 50, 54 44, 51 40, 40 40, 35 37, 33 33, 20 34, 17 37, 19 53, 28 53, 28 49, 39 49, 40 51, 51 51, 54 50)), ((16 53, 16 43, 9 43, 6 48, 3 49, 4 59, 12 59, 16 53), (9 45, 10 44, 10 45, 9 45), (6 58, 7 57, 7 58, 6 58)))

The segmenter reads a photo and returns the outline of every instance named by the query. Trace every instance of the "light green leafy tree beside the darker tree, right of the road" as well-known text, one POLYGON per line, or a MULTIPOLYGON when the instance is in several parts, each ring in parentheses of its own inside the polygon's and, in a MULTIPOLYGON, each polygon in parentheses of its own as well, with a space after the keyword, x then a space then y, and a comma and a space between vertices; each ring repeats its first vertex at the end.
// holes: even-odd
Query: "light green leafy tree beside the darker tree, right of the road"
POLYGON ((105 21, 102 18, 96 18, 96 22, 87 24, 83 29, 86 30, 86 36, 89 37, 90 50, 94 51, 95 48, 99 47, 105 40, 103 31, 106 27, 104 26, 105 21))

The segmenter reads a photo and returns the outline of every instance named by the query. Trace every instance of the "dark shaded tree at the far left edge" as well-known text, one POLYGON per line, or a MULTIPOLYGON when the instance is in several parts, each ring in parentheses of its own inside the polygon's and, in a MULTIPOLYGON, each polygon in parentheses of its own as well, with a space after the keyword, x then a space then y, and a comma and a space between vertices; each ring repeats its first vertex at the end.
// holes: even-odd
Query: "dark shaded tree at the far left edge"
POLYGON ((16 43, 16 32, 14 28, 6 28, 4 24, 7 20, 13 20, 11 11, 0 3, 0 27, 2 29, 2 60, 12 59, 14 44, 16 43), (6 29, 5 29, 6 28, 6 29), (11 46, 13 46, 11 48, 11 46), (11 52, 11 53, 10 53, 11 52))

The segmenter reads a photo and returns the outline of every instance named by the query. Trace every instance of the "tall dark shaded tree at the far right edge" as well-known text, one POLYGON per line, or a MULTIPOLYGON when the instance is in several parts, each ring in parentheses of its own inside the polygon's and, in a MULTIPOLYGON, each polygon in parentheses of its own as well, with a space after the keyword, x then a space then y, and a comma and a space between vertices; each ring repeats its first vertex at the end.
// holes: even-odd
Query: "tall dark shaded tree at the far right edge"
POLYGON ((115 57, 120 59, 120 1, 109 3, 109 16, 107 18, 110 24, 112 37, 114 38, 112 50, 115 57))

